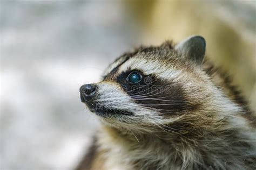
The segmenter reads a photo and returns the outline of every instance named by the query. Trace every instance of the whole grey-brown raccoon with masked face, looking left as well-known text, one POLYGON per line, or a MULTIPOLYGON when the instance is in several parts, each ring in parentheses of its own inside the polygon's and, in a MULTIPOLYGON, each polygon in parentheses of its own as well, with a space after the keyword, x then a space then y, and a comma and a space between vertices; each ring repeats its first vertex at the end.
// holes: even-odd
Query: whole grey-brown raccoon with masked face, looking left
POLYGON ((206 42, 140 47, 80 99, 102 126, 82 169, 256 169, 256 121, 206 42))

